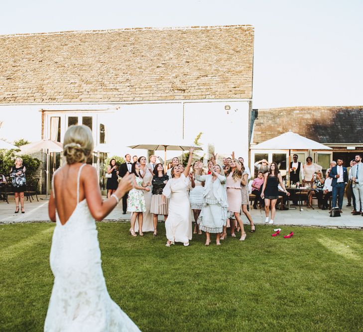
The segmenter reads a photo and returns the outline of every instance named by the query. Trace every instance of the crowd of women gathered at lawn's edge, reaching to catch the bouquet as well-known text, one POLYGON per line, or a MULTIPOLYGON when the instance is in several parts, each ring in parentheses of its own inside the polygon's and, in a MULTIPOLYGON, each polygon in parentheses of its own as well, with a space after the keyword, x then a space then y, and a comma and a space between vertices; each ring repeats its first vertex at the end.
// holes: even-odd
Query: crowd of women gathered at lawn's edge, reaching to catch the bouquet
MULTIPOLYGON (((206 234, 205 245, 210 244, 211 234, 216 234, 216 244, 220 245, 221 240, 227 237, 227 228, 230 228, 232 237, 236 237, 236 232, 241 231, 240 240, 243 241, 246 232, 242 213, 249 221, 250 231, 255 231, 248 211, 248 183, 251 173, 244 165, 243 158, 237 159, 233 152, 231 157, 223 158, 223 164, 219 165, 218 156, 214 154, 205 169, 200 160, 192 164, 193 151, 194 148, 191 148, 185 167, 178 157, 174 157, 166 172, 163 165, 156 162, 156 156, 151 156, 149 163, 143 156, 134 158, 136 161, 131 163, 131 156, 126 154, 126 161, 121 165, 120 171, 114 168, 116 161, 110 161, 108 174, 122 177, 129 172, 134 175, 133 189, 122 199, 125 200, 123 213, 131 213, 129 231, 132 236, 137 236, 137 232, 139 236, 143 236, 148 231, 157 236, 160 215, 165 220, 167 246, 175 242, 188 246, 192 234, 202 234, 202 231, 206 234), (195 221, 194 230, 192 215, 195 221)), ((113 179, 108 179, 110 195, 117 188, 113 179)), ((265 173, 259 172, 252 186, 255 191, 260 191, 258 200, 264 206, 266 222, 272 224, 279 187, 286 196, 289 195, 277 164, 269 165, 265 173)))

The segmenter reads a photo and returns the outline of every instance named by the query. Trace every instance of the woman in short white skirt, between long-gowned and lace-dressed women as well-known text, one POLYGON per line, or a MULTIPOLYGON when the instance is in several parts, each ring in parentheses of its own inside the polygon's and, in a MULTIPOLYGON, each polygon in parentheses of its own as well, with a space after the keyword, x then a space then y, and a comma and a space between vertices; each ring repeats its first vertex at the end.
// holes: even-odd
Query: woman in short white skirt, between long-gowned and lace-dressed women
POLYGON ((194 221, 195 221, 195 226, 194 226, 194 234, 202 234, 202 231, 200 229, 198 229, 198 218, 199 218, 199 214, 203 208, 203 185, 204 183, 202 181, 198 181, 195 178, 195 174, 198 175, 204 175, 204 170, 203 170, 203 164, 200 162, 200 160, 197 160, 194 162, 193 164, 193 180, 195 183, 195 187, 192 188, 189 192, 189 200, 190 200, 190 206, 193 210, 193 216, 194 216, 194 221))

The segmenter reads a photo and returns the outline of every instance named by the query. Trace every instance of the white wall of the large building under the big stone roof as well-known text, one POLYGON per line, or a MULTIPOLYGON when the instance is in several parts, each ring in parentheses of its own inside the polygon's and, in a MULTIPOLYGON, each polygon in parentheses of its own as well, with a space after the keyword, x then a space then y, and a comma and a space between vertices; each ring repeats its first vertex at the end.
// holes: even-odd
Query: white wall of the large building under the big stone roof
MULTIPOLYGON (((192 144, 196 135, 203 132, 203 152, 208 157, 208 144, 214 144, 219 156, 236 152, 248 162, 248 113, 247 101, 211 102, 150 102, 131 104, 56 104, 0 106, 0 138, 9 142, 24 138, 29 141, 41 139, 41 110, 46 111, 44 133, 49 138, 50 116, 61 116, 61 141, 67 128, 70 113, 97 116, 99 123, 107 126, 107 144, 98 145, 109 155, 145 155, 146 150, 130 149, 132 144, 174 144, 184 141, 192 144), (226 110, 225 106, 230 106, 226 110), (183 140, 184 128, 184 140, 183 140)), ((96 120, 97 119, 97 120, 96 120)), ((95 145, 97 135, 94 135, 95 145)), ((164 153, 157 152, 162 158, 164 153)), ((180 156, 170 151, 167 158, 180 156)))

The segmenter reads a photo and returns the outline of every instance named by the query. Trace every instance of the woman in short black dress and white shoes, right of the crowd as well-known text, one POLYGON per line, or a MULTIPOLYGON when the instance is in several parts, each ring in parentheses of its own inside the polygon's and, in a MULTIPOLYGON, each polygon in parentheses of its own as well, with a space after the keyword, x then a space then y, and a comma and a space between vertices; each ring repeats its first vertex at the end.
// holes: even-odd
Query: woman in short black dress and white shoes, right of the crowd
POLYGON ((282 182, 282 176, 278 170, 278 166, 275 162, 272 162, 270 165, 270 169, 268 173, 264 174, 263 187, 261 192, 261 198, 265 200, 265 214, 266 220, 270 224, 273 224, 273 220, 275 218, 275 205, 278 199, 278 184, 280 183, 282 189, 286 193, 287 196, 290 196, 290 193, 286 190, 284 183, 282 182), (268 221, 269 209, 271 203, 271 220, 268 221))

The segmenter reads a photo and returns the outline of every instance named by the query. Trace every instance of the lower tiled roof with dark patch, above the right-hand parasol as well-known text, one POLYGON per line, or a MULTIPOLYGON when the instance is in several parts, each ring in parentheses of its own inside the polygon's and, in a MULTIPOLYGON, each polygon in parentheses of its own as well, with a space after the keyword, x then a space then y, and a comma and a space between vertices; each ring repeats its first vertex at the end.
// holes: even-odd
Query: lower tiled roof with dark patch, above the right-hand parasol
MULTIPOLYGON (((259 109, 253 142, 261 143, 291 129, 322 144, 363 143, 363 106, 259 109)), ((253 114, 251 116, 253 118, 253 114)))

